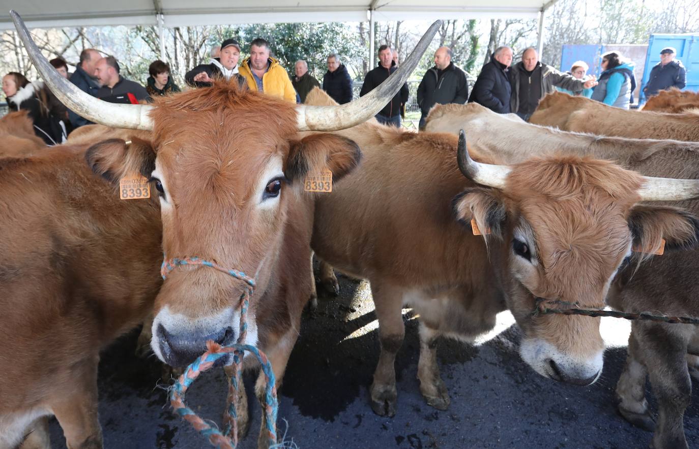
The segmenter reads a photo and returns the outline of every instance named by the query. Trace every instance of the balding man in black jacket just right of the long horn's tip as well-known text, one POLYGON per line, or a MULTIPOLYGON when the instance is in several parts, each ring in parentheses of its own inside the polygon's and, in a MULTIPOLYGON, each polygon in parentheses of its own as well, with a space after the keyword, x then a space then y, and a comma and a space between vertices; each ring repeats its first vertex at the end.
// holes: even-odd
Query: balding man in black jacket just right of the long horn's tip
POLYGON ((435 103, 463 105, 468 99, 466 73, 452 63, 452 50, 439 47, 435 52, 435 66, 426 71, 417 87, 417 104, 420 106, 420 129, 425 127, 425 118, 435 103))

